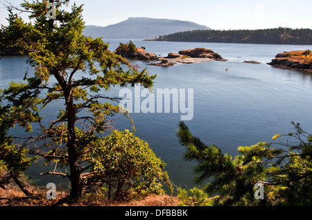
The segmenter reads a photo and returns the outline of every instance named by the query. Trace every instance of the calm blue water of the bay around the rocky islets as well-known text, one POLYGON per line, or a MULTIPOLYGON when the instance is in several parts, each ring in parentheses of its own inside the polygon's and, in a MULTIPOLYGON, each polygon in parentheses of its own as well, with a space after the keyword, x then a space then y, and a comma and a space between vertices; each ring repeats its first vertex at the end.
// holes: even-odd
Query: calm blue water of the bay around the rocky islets
MULTIPOLYGON (((127 43, 129 39, 105 39, 110 49, 127 43)), ((284 51, 312 50, 312 46, 218 44, 191 42, 144 42, 135 39, 136 46, 146 51, 166 56, 182 49, 204 47, 219 53, 227 62, 201 62, 175 64, 171 67, 148 66, 135 62, 141 68, 157 74, 156 89, 193 89, 194 116, 187 121, 191 132, 207 144, 215 144, 224 153, 237 155, 237 147, 253 145, 261 140, 270 142, 277 133, 293 131, 291 121, 300 122, 306 131, 312 132, 312 74, 272 68, 267 62, 284 51), (243 63, 254 60, 261 64, 243 63), (229 71, 225 71, 229 68, 229 71)), ((0 89, 11 80, 20 81, 27 69, 26 57, 5 57, 0 60, 0 89)), ((118 95, 119 88, 110 94, 118 95)), ((144 98, 142 98, 143 100, 144 98)), ((60 103, 44 110, 45 121, 55 117, 60 103)), ((175 136, 180 113, 132 113, 137 131, 155 154, 167 163, 171 181, 182 187, 193 186, 193 163, 182 159, 184 147, 175 136)), ((116 128, 130 129, 127 119, 119 116, 116 128)), ((19 132, 19 129, 12 132, 19 132)), ((29 176, 53 168, 41 163, 28 169, 29 176)), ((40 177, 38 184, 55 182, 55 176, 40 177)))

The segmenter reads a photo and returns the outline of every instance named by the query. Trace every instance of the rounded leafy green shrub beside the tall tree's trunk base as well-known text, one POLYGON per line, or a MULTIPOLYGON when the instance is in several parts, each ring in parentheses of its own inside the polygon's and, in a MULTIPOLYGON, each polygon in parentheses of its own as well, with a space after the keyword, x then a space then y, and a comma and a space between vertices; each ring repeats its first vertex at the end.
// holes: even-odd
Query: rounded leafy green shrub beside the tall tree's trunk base
MULTIPOLYGON (((144 140, 125 131, 113 131, 96 143, 92 164, 96 181, 107 190, 107 199, 125 200, 163 193, 163 181, 171 190, 165 163, 144 140)), ((94 177, 93 177, 94 178, 94 177)))

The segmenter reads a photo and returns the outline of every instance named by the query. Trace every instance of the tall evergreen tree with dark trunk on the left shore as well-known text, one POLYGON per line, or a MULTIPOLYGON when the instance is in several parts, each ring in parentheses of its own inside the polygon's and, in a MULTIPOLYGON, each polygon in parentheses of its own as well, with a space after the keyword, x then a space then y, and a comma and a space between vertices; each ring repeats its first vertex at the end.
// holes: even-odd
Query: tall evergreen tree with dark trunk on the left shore
MULTIPOLYGON (((13 8, 8 6, 10 24, 1 28, 3 41, 0 51, 27 51, 28 63, 33 66, 35 73, 31 77, 25 75, 24 82, 12 82, 3 91, 3 98, 8 101, 8 105, 3 108, 15 109, 20 106, 28 109, 28 114, 21 114, 24 117, 20 116, 19 122, 27 125, 27 130, 31 131, 30 123, 40 122, 41 119, 33 118, 39 117, 38 107, 45 108, 55 101, 64 102, 58 118, 49 127, 42 125, 44 135, 35 137, 35 140, 51 140, 42 146, 49 151, 36 149, 33 154, 40 155, 47 161, 57 162, 58 165, 69 166, 67 174, 44 174, 68 177, 71 182, 71 198, 77 199, 83 195, 84 172, 92 167, 83 166, 91 159, 94 149, 92 142, 103 136, 103 132, 109 127, 110 116, 123 113, 129 117, 128 113, 119 111, 119 107, 114 105, 114 101, 118 99, 103 94, 115 85, 134 86, 135 83, 140 83, 146 88, 153 86, 156 75, 150 75, 146 69, 139 70, 131 66, 126 59, 109 51, 109 45, 102 39, 83 35, 83 6, 76 6, 75 3, 71 11, 67 12, 63 8, 69 0, 50 3, 55 6, 55 19, 46 16, 51 10, 47 7, 49 2, 46 0, 24 1, 21 8, 15 8, 29 13, 31 23, 28 24, 17 14, 13 14, 13 8), (12 44, 10 36, 26 43, 12 44), (56 82, 51 83, 50 79, 56 82), (89 111, 89 114, 79 115, 85 111, 89 111)), ((13 121, 12 126, 16 122, 13 121)), ((6 125, 2 123, 1 126, 6 125)), ((6 127, 3 130, 6 131, 6 127)), ((3 152, 3 146, 5 145, 1 145, 0 152, 3 152)))

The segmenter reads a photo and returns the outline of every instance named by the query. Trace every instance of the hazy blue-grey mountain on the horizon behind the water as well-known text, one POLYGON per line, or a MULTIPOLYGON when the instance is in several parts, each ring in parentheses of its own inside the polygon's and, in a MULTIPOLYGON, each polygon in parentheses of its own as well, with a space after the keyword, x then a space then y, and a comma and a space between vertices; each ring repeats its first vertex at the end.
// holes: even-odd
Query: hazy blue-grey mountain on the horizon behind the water
POLYGON ((118 24, 106 27, 86 26, 83 33, 87 36, 106 39, 154 39, 160 35, 187 30, 211 30, 211 28, 191 21, 130 17, 118 24))

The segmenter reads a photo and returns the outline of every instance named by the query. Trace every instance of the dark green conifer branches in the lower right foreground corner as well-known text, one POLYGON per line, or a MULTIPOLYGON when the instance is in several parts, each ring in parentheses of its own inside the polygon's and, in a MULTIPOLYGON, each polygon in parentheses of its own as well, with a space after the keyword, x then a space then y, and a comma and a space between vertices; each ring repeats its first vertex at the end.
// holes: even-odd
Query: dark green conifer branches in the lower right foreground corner
POLYGON ((312 205, 312 136, 292 123, 294 133, 273 136, 286 140, 241 146, 235 158, 202 143, 184 122, 177 136, 186 147, 184 160, 198 163, 194 182, 218 195, 214 205, 312 205), (254 196, 256 183, 264 185, 264 199, 254 196))

